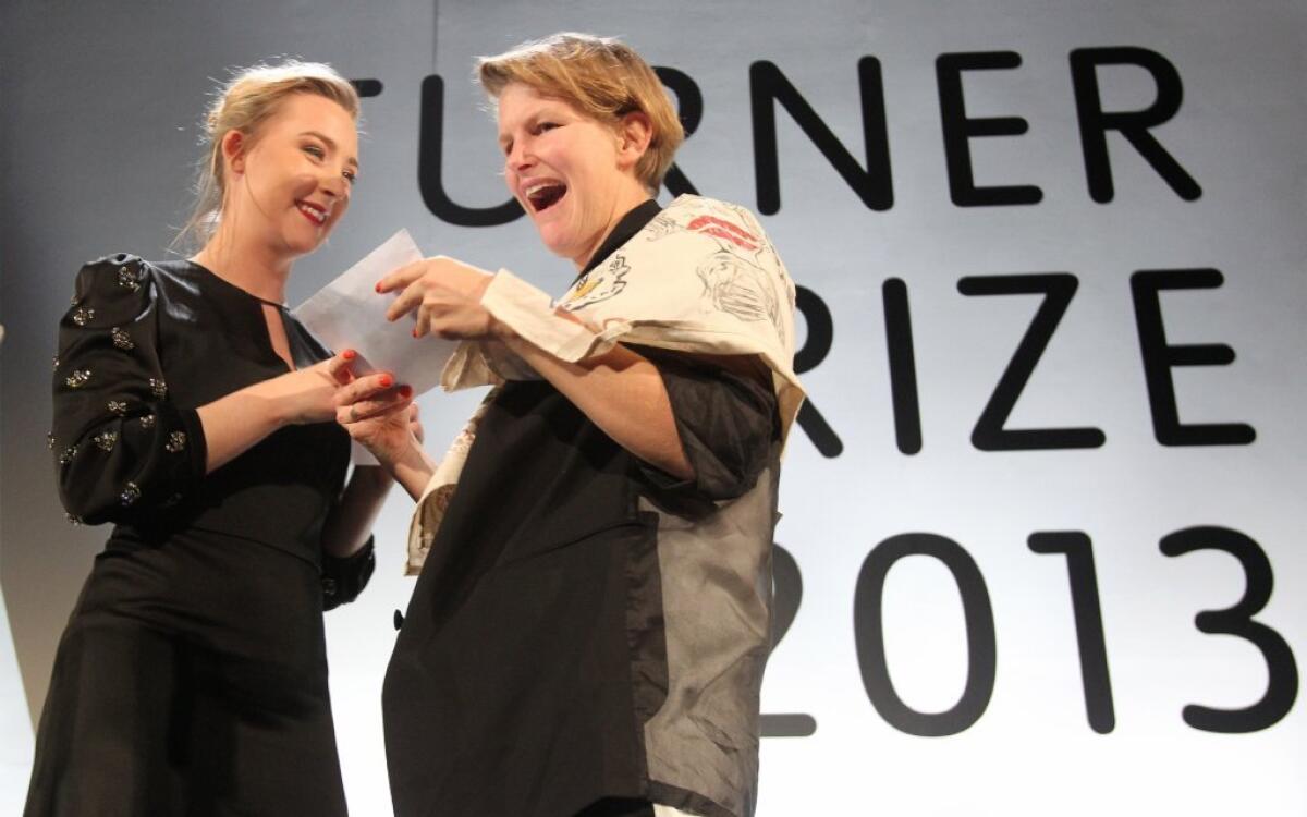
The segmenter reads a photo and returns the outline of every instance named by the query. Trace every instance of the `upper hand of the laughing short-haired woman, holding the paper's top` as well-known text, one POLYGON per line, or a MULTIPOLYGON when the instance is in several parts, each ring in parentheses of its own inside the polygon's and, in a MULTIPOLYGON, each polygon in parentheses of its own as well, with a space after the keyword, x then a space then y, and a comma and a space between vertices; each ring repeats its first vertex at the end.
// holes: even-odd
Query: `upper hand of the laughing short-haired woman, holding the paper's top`
POLYGON ((413 314, 413 337, 435 335, 456 340, 502 337, 505 327, 481 306, 491 276, 471 264, 438 255, 392 272, 376 292, 400 292, 386 311, 387 320, 413 314))

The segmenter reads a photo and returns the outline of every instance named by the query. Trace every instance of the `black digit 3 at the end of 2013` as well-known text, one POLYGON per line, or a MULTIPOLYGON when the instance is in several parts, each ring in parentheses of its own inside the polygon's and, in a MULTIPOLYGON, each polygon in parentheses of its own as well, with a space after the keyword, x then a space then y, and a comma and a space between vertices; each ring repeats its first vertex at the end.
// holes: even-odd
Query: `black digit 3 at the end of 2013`
POLYGON ((1204 732, 1242 733, 1266 729, 1294 707, 1298 698, 1298 663, 1283 637, 1252 617, 1260 613, 1274 587, 1265 550, 1251 537, 1221 527, 1195 527, 1162 537, 1162 553, 1183 556, 1195 550, 1222 550, 1239 559, 1247 588, 1239 603, 1223 610, 1204 610, 1195 624, 1208 634, 1235 635, 1252 642, 1266 661, 1266 692, 1252 706, 1239 710, 1191 703, 1184 723, 1204 732))

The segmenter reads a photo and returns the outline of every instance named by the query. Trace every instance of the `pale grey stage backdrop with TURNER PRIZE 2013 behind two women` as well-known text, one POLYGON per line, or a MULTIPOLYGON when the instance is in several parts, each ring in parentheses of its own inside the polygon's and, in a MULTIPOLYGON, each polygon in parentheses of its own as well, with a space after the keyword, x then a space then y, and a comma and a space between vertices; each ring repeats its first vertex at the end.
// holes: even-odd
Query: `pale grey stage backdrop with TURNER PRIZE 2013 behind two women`
MULTIPOLYGON (((661 68, 693 131, 668 187, 757 210, 801 288, 759 814, 1307 813, 1300 0, 3 14, 0 575, 33 714, 107 533, 55 498, 55 327, 82 261, 167 256, 213 78, 294 54, 374 81, 293 301, 401 226, 562 292, 469 75, 579 29, 661 68)), ((477 397, 422 399, 433 450, 477 397)), ((328 616, 369 817, 409 505, 328 616)))

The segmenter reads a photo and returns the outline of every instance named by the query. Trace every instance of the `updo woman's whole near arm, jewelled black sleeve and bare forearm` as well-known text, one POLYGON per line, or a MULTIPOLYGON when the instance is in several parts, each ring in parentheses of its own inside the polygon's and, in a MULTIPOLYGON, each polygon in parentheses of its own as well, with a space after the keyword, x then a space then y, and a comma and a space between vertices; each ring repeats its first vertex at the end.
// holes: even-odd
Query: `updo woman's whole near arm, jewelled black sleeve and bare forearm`
POLYGON ((60 324, 48 442, 74 519, 150 519, 277 427, 335 416, 345 356, 199 409, 176 403, 159 353, 156 288, 135 256, 88 264, 60 324))

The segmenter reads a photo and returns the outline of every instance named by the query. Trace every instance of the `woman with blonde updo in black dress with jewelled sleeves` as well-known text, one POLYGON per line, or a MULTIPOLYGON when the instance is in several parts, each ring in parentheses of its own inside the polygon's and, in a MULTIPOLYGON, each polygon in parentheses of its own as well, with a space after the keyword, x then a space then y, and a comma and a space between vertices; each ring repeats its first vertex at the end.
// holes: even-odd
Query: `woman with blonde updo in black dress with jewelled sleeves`
MULTIPOLYGON (((367 582, 391 480, 346 485, 354 354, 284 302, 349 205, 358 108, 325 65, 237 75, 207 119, 195 255, 77 276, 50 447, 69 522, 114 528, 59 644, 26 817, 346 812, 322 612, 367 582)), ((391 375, 359 382, 416 424, 391 375)))

